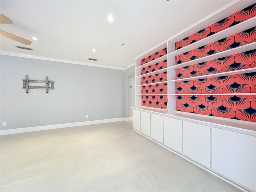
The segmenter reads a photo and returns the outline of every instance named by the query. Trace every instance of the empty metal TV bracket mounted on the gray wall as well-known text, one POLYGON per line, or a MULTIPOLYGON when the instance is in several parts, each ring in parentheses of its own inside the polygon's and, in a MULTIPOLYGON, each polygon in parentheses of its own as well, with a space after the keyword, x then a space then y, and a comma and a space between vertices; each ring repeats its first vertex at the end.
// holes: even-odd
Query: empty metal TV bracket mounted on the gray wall
POLYGON ((26 79, 23 79, 23 89, 26 89, 28 93, 28 89, 46 89, 46 93, 48 93, 49 89, 54 89, 54 81, 49 81, 48 77, 46 77, 46 81, 44 80, 29 80, 26 75, 26 79), (46 83, 46 86, 28 86, 29 83, 46 83))

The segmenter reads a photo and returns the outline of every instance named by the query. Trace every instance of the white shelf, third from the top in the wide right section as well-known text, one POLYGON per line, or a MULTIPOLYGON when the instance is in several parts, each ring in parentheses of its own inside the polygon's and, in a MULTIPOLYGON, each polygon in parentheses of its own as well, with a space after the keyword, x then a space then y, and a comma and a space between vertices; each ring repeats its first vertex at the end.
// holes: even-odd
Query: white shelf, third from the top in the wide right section
POLYGON ((169 80, 168 82, 189 81, 189 80, 195 80, 195 79, 221 77, 221 76, 227 76, 227 75, 235 75, 235 74, 241 74, 241 73, 252 73, 252 72, 256 72, 256 67, 248 68, 248 69, 235 70, 235 71, 222 72, 222 73, 216 73, 216 74, 210 74, 210 75, 189 77, 189 78, 183 78, 183 79, 174 79, 174 80, 169 80))

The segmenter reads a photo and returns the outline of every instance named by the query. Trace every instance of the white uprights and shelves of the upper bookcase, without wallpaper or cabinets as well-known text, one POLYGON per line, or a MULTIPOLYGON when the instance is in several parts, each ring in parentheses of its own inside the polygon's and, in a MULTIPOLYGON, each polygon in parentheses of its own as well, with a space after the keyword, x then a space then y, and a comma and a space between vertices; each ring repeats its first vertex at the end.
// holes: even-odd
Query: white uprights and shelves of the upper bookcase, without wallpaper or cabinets
MULTIPOLYGON (((238 4, 236 4, 236 3, 233 4, 235 11, 239 10, 238 9, 238 4)), ((245 3, 244 6, 246 7, 246 5, 248 5, 248 4, 245 3)), ((213 21, 218 21, 218 19, 221 20, 221 18, 224 18, 225 16, 228 16, 228 15, 225 14, 225 10, 221 10, 218 13, 218 16, 216 16, 217 19, 214 19, 214 16, 209 17, 208 25, 212 24, 213 21)), ((202 21, 202 23, 204 23, 204 25, 207 26, 205 24, 205 22, 206 22, 206 19, 204 19, 204 21, 202 21)), ((206 44, 209 44, 209 43, 212 43, 214 41, 220 40, 222 38, 226 38, 228 36, 234 35, 234 34, 239 33, 241 31, 244 31, 244 30, 250 29, 252 27, 255 27, 256 26, 256 17, 252 17, 248 20, 240 22, 239 24, 236 24, 234 26, 226 28, 226 29, 224 29, 224 30, 222 30, 218 33, 215 33, 211 36, 208 36, 208 37, 203 38, 201 40, 198 40, 198 41, 196 41, 192 44, 184 46, 184 47, 182 47, 178 50, 175 50, 174 49, 175 42, 177 42, 178 40, 181 40, 183 38, 186 38, 190 34, 195 33, 196 30, 200 29, 198 26, 200 26, 200 23, 198 23, 194 26, 191 26, 189 29, 184 31, 183 32, 184 35, 182 35, 182 32, 181 32, 181 33, 177 34, 176 36, 173 36, 172 38, 166 40, 166 42, 163 42, 162 44, 159 44, 158 46, 154 47, 152 50, 140 55, 139 57, 137 57, 135 59, 135 74, 136 74, 136 102, 135 103, 136 103, 136 107, 140 107, 142 105, 141 104, 141 87, 142 86, 166 83, 166 81, 164 81, 164 82, 151 82, 151 83, 148 83, 148 84, 142 84, 142 82, 141 82, 142 77, 146 77, 146 76, 150 76, 150 75, 158 74, 160 72, 166 72, 167 71, 167 73, 168 73, 168 81, 167 81, 167 83, 168 83, 168 105, 167 105, 167 111, 168 111, 168 113, 171 113, 171 112, 175 112, 175 109, 176 109, 175 108, 175 96, 176 95, 182 95, 182 94, 175 94, 175 83, 176 82, 256 72, 256 68, 254 67, 254 68, 246 68, 246 69, 242 69, 242 70, 234 70, 234 71, 230 71, 230 72, 220 72, 220 73, 216 73, 216 74, 209 74, 209 75, 201 75, 201 76, 195 76, 195 77, 176 79, 175 70, 178 69, 178 68, 193 66, 194 64, 207 62, 207 61, 210 61, 210 60, 223 58, 223 57, 226 57, 226 56, 239 54, 241 52, 246 52, 246 51, 256 49, 256 42, 252 42, 252 43, 249 43, 249 44, 245 44, 243 46, 238 46, 236 48, 223 50, 222 52, 218 52, 216 54, 201 57, 201 58, 191 60, 191 61, 187 61, 187 62, 184 62, 184 63, 181 63, 181 64, 176 64, 175 56, 177 56, 179 54, 182 54, 184 52, 188 52, 188 51, 193 50, 195 48, 198 48, 200 46, 204 46, 206 44), (151 62, 148 62, 146 64, 141 64, 141 60, 143 58, 146 58, 150 54, 158 52, 159 50, 161 50, 163 48, 166 48, 166 47, 167 47, 167 50, 168 50, 167 55, 162 56, 160 58, 157 58, 155 60, 152 60, 151 62), (154 72, 149 72, 147 74, 142 74, 141 75, 141 69, 142 68, 145 68, 147 66, 156 64, 156 63, 164 61, 166 59, 167 59, 167 63, 168 63, 167 68, 163 68, 163 69, 160 69, 160 70, 157 70, 157 71, 154 71, 154 72)), ((244 95, 255 95, 254 93, 248 93, 248 92, 244 92, 243 94, 244 95)), ((194 95, 204 95, 204 94, 194 94, 194 95)), ((207 95, 207 94, 205 94, 205 95, 207 95)), ((214 94, 211 94, 211 95, 214 95, 214 94)), ((216 95, 232 95, 232 94, 216 94, 216 95)))

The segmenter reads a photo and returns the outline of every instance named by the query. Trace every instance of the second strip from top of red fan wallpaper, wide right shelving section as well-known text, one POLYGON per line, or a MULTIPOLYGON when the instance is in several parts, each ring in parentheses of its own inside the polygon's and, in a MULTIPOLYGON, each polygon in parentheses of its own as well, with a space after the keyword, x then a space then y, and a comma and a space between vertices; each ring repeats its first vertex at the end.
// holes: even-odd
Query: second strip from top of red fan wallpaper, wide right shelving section
POLYGON ((198 47, 175 56, 176 64, 181 64, 198 58, 206 57, 225 50, 233 49, 252 42, 256 42, 256 27, 228 36, 216 42, 198 47))

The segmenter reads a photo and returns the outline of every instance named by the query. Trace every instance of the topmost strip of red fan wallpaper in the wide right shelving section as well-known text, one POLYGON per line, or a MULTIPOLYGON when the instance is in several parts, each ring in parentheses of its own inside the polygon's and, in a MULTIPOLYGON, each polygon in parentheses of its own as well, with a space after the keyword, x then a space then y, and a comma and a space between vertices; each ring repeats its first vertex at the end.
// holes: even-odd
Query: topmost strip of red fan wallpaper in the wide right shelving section
POLYGON ((256 16, 256 3, 248 6, 235 14, 232 14, 178 42, 175 43, 175 50, 185 47, 189 44, 192 44, 196 41, 199 41, 203 38, 211 36, 217 32, 220 32, 226 28, 232 27, 240 22, 248 20, 256 16))

